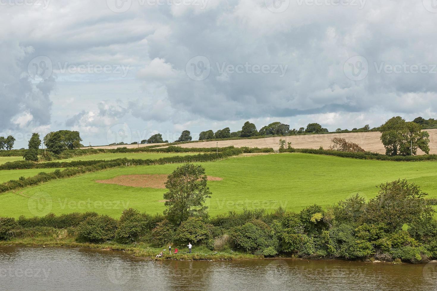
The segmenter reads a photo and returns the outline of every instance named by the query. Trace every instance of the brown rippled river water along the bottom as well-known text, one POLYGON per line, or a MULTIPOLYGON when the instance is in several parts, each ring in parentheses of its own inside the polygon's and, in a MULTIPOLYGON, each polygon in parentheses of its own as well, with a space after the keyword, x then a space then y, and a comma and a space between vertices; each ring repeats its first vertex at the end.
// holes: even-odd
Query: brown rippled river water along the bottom
POLYGON ((0 290, 437 290, 437 263, 148 261, 113 251, 0 247, 0 290))

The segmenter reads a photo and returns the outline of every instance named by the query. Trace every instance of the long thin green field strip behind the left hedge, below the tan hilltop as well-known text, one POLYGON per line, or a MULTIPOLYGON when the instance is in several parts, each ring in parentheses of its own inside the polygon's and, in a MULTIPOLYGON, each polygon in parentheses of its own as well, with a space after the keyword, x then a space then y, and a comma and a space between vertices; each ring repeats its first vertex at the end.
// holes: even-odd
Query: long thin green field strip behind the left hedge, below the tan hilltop
POLYGON ((173 156, 185 156, 193 153, 103 153, 103 154, 90 154, 86 156, 71 157, 68 159, 55 160, 57 162, 69 162, 69 161, 92 161, 92 160, 114 160, 120 158, 128 159, 159 159, 160 157, 173 157, 173 156))

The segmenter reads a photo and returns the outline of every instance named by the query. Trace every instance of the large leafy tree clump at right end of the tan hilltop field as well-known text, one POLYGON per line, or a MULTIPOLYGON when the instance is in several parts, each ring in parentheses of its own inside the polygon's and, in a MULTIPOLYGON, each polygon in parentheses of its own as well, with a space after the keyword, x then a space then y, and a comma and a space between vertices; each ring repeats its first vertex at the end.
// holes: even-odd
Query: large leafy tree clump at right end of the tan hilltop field
POLYGON ((410 155, 417 153, 420 148, 429 154, 429 134, 422 131, 422 126, 415 122, 406 122, 401 116, 395 116, 387 120, 380 127, 381 141, 387 155, 410 155), (413 144, 413 148, 411 148, 413 144))

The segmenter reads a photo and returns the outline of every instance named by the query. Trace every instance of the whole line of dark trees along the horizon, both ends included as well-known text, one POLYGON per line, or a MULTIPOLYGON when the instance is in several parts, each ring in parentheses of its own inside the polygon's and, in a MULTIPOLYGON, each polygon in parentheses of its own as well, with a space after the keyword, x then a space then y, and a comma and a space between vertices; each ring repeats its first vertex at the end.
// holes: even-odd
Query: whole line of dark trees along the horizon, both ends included
MULTIPOLYGON (((381 141, 386 148, 386 154, 388 155, 410 155, 416 154, 417 149, 420 148, 423 152, 429 153, 429 134, 421 130, 429 128, 437 128, 437 120, 430 118, 425 120, 419 116, 413 121, 407 122, 401 116, 395 116, 389 119, 386 123, 380 127, 370 128, 368 124, 361 128, 354 128, 352 131, 369 131, 378 130, 381 131, 381 141), (413 144, 413 148, 411 145, 413 144)), ((336 132, 349 132, 349 130, 342 130, 337 128, 336 132)), ((304 133, 328 133, 329 130, 323 128, 319 123, 309 123, 306 128, 300 127, 298 130, 293 128, 290 130, 288 124, 281 123, 279 121, 270 123, 260 130, 254 123, 246 121, 243 124, 241 130, 231 132, 229 127, 217 130, 201 131, 199 134, 199 140, 211 140, 211 139, 226 139, 235 137, 254 137, 254 136, 269 136, 269 135, 291 135, 291 134, 304 134, 304 133)), ((191 132, 184 130, 180 134, 180 137, 174 142, 187 142, 191 141, 191 132)), ((66 149, 74 149, 83 147, 81 144, 82 138, 78 131, 71 130, 58 130, 52 131, 45 135, 44 144, 48 151, 53 154, 60 154, 66 149)), ((11 150, 14 146, 15 138, 12 135, 8 137, 0 137, 0 150, 11 150)), ((163 140, 162 134, 154 134, 148 139, 141 140, 141 144, 158 144, 168 143, 168 140, 163 140)), ((41 146, 42 141, 38 133, 33 133, 28 143, 28 151, 26 153, 26 160, 38 161, 38 148, 41 146)), ((133 142, 132 144, 138 144, 133 142)), ((115 145, 115 144, 114 144, 115 145)), ((125 145, 125 143, 119 143, 117 145, 125 145)), ((24 148, 23 148, 24 149, 24 148)), ((49 158, 49 157, 48 157, 49 158)))

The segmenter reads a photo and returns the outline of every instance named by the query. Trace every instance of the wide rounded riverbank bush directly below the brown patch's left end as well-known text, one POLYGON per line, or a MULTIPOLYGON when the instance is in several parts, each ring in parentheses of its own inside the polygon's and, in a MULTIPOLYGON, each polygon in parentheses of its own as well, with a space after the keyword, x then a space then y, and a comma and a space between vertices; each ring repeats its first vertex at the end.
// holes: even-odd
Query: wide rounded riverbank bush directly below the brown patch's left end
POLYGON ((90 216, 77 228, 80 240, 101 243, 113 240, 117 230, 117 221, 110 216, 90 216))

